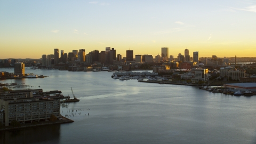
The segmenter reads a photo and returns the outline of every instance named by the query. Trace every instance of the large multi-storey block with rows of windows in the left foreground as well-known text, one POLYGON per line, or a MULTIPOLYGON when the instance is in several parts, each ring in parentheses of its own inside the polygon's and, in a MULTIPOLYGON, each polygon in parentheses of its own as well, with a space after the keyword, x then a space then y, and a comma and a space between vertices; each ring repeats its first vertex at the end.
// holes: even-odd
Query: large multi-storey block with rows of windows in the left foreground
POLYGON ((51 115, 60 117, 60 100, 37 98, 14 98, 0 99, 4 110, 4 124, 9 124, 15 120, 25 123, 27 121, 40 121, 49 119, 51 115))

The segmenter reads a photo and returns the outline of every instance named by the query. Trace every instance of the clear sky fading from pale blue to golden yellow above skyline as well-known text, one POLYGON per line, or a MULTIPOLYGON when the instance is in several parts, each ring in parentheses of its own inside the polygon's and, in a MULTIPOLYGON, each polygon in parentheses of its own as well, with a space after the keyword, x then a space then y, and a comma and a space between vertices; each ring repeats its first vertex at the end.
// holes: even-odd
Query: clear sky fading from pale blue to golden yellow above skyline
POLYGON ((256 57, 256 1, 4 1, 0 59, 42 58, 53 49, 190 57, 256 57))

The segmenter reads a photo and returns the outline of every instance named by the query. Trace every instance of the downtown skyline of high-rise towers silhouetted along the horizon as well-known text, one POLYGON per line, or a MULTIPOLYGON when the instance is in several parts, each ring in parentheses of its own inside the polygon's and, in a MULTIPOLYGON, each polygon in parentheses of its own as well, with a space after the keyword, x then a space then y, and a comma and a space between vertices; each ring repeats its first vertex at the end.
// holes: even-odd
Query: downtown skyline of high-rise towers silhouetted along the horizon
POLYGON ((42 55, 42 66, 47 67, 49 65, 58 65, 60 63, 67 62, 84 62, 87 64, 93 62, 100 62, 102 64, 113 65, 114 61, 121 62, 160 62, 160 61, 179 61, 179 62, 199 62, 198 52, 193 52, 193 59, 190 58, 189 50, 185 50, 185 54, 178 54, 177 59, 174 59, 173 55, 169 55, 169 47, 162 47, 161 56, 156 55, 155 59, 153 55, 138 54, 133 57, 133 50, 126 50, 126 57, 122 59, 121 54, 116 54, 116 50, 111 47, 106 47, 105 51, 94 50, 85 54, 85 50, 73 50, 72 52, 65 53, 63 50, 54 49, 54 54, 42 55), (59 57, 60 55, 60 57, 59 57))

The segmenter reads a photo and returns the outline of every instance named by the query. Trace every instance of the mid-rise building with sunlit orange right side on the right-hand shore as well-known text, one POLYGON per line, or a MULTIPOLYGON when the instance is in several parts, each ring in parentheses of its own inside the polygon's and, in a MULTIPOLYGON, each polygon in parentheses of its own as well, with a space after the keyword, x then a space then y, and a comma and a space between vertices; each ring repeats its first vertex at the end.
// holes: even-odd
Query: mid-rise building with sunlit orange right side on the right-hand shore
POLYGON ((192 83, 198 83, 199 81, 207 82, 209 81, 208 69, 194 69, 195 78, 192 78, 192 83))

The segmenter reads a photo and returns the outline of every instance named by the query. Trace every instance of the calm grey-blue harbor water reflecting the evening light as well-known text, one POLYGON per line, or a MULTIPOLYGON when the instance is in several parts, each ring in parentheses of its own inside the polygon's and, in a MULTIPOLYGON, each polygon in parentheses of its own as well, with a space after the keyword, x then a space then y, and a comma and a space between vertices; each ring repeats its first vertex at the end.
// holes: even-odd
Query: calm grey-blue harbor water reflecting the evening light
MULTIPOLYGON (((13 69, 0 71, 13 72, 13 69)), ((32 89, 61 90, 63 95, 72 95, 72 87, 80 101, 69 103, 61 111, 66 115, 74 109, 76 117, 70 118, 75 122, 1 132, 0 143, 255 143, 256 140, 256 96, 234 97, 193 86, 119 81, 106 71, 26 69, 26 73, 49 77, 8 79, 0 83, 26 83, 35 86, 32 89)))

